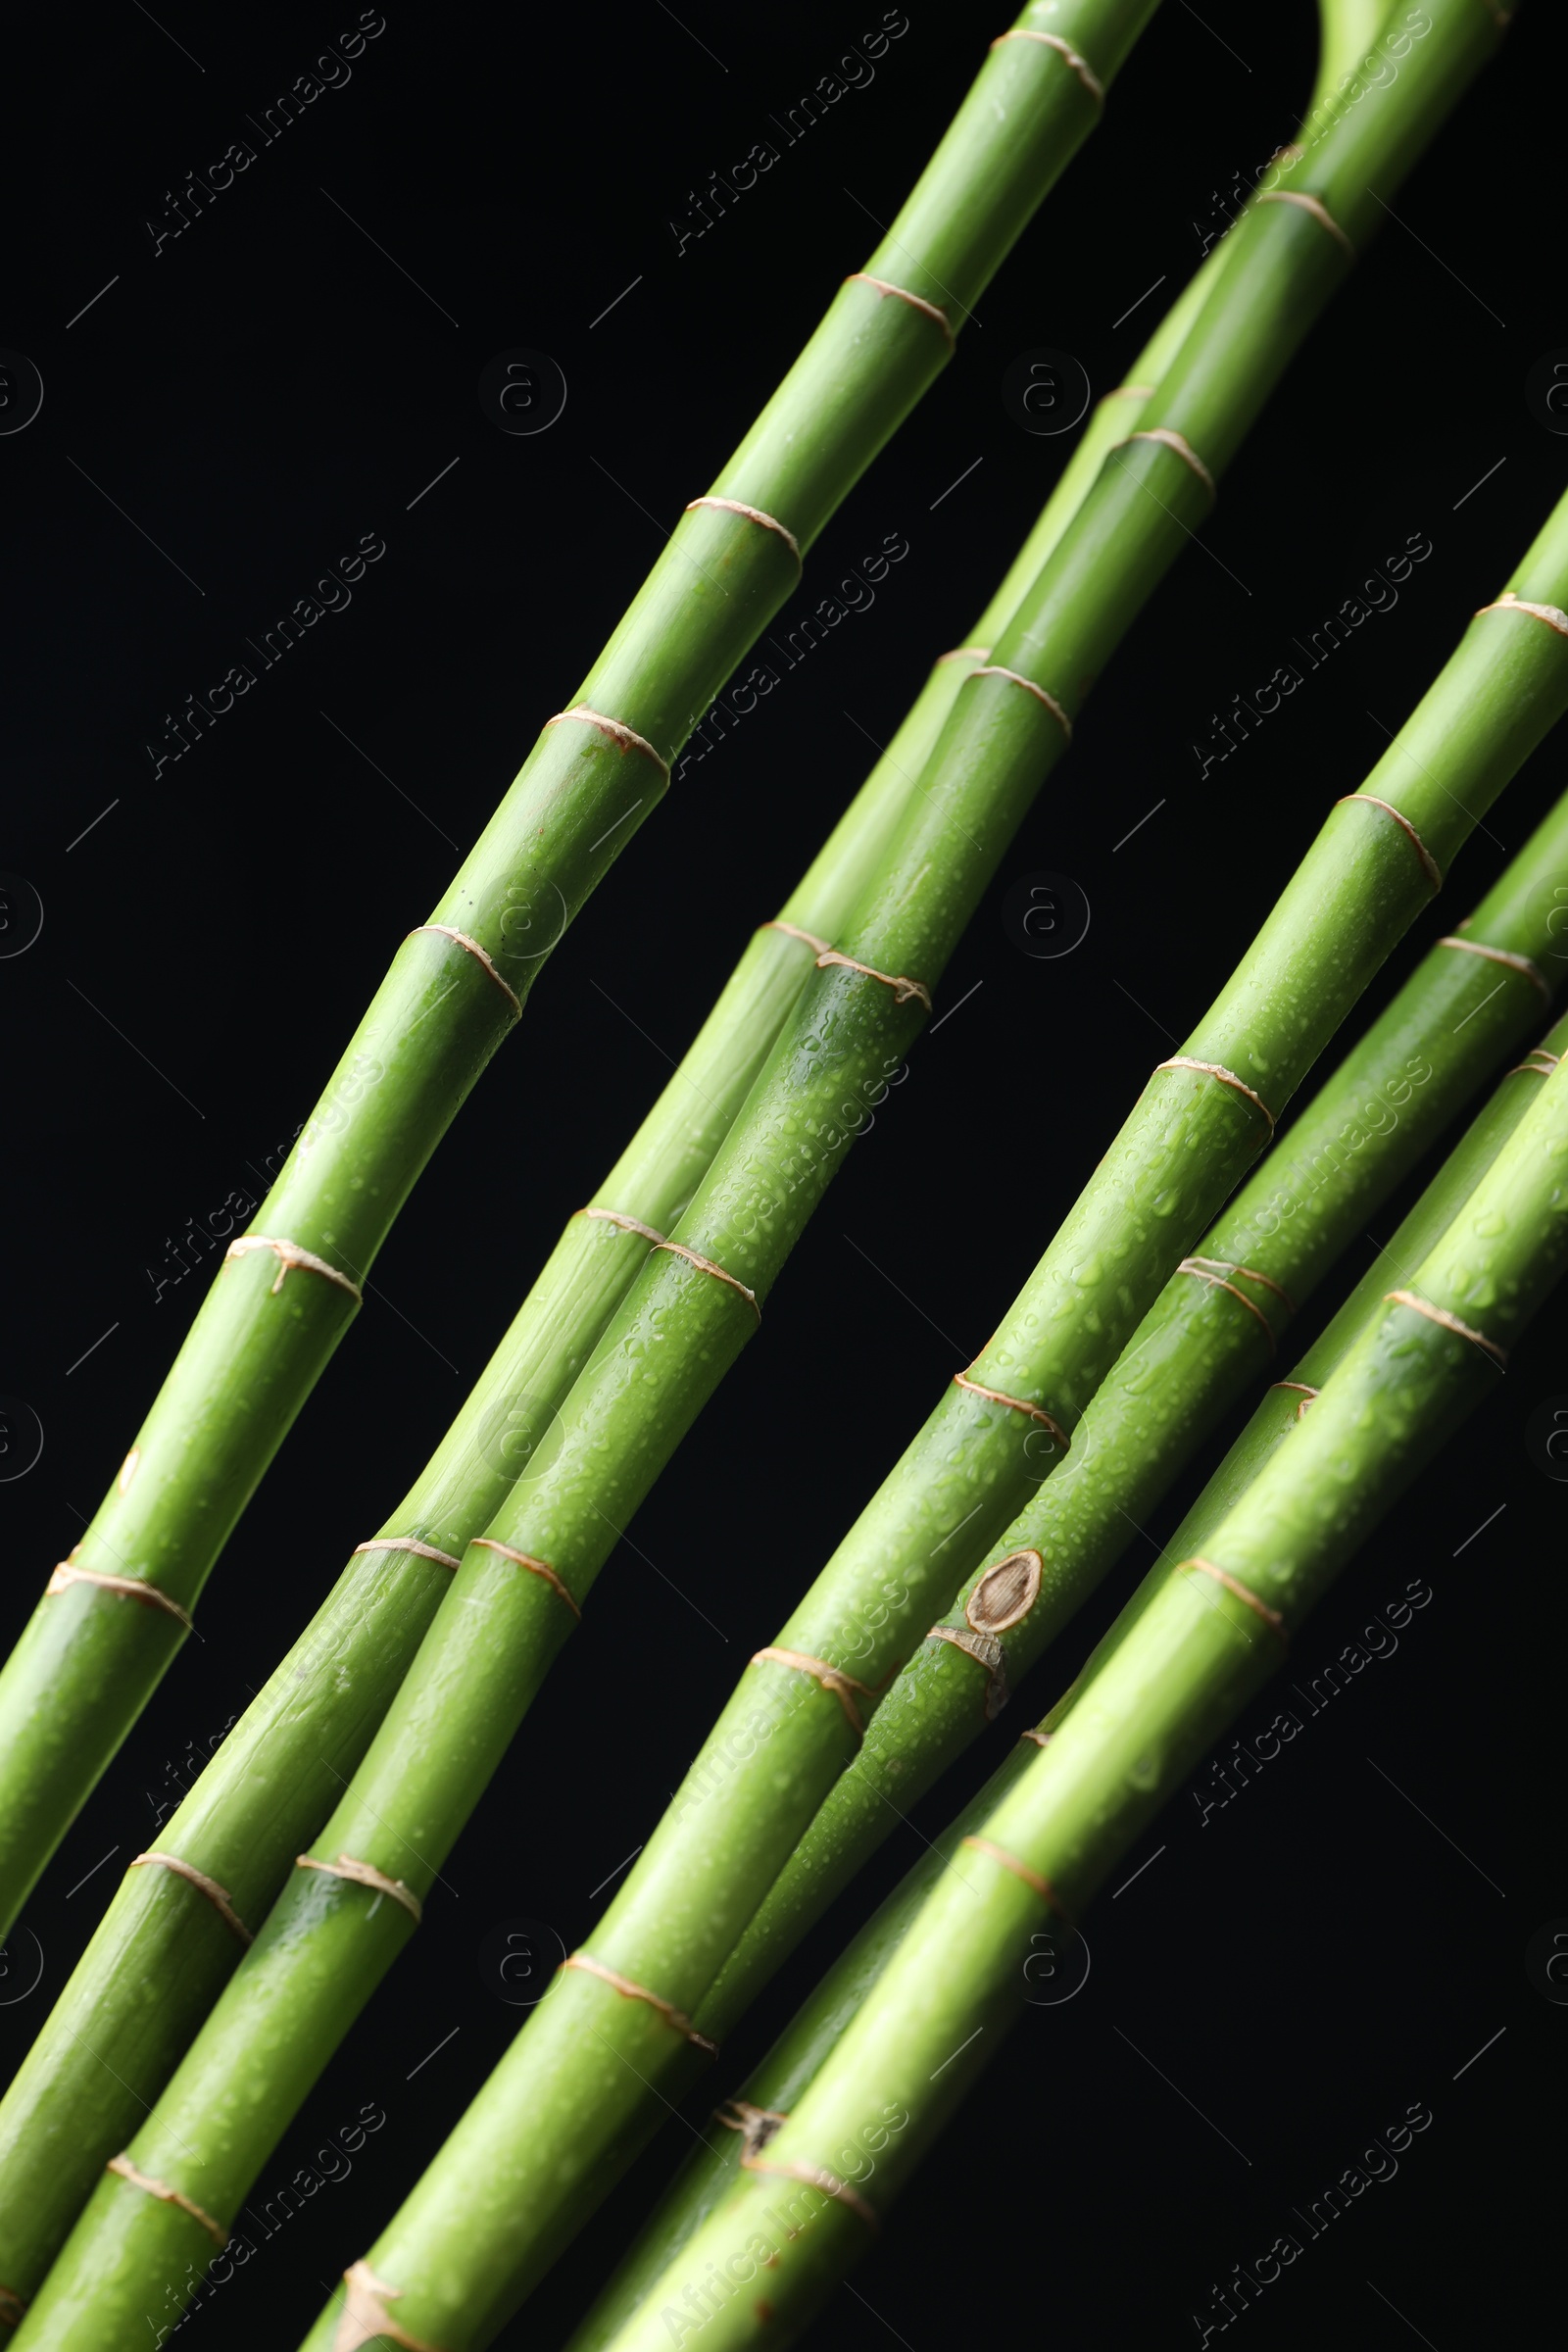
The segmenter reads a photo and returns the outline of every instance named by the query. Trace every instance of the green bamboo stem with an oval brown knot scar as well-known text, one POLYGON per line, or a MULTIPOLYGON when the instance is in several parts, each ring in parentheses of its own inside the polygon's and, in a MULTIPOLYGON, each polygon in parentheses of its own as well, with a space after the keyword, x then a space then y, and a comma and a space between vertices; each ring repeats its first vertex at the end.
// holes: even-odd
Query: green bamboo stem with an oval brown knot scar
MULTIPOLYGON (((1540 652, 1554 659, 1547 633, 1540 652)), ((1559 659, 1568 668, 1568 644, 1559 659)), ((1493 953, 1453 941, 1427 953, 1204 1237, 1194 1272, 1173 1275, 1159 1294, 1084 1414, 1070 1458, 987 1550, 877 1708, 865 1745, 701 2002, 703 2032, 722 2039, 733 2027, 917 1797, 987 1729, 1220 1416, 1276 1371, 1274 1350, 1328 1265, 1528 1033, 1547 974, 1559 974, 1544 880, 1561 870, 1568 795, 1453 936, 1493 953), (997 1573, 1001 1562, 1027 1583, 1013 1588, 997 1573)), ((1396 1247, 1406 1263, 1422 1254, 1396 1247)), ((1291 1378, 1316 1385, 1300 1367, 1291 1378)), ((1267 1418, 1288 1425, 1300 1402, 1295 1388, 1269 1390, 1267 1418)), ((1182 1541, 1199 1548, 1197 1536, 1182 1541)))

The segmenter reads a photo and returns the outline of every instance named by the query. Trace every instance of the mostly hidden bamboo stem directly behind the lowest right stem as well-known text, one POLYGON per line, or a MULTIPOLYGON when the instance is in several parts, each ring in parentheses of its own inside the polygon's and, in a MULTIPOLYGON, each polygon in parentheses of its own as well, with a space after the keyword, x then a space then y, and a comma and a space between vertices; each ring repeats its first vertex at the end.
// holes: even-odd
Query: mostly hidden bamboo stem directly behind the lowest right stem
MULTIPOLYGON (((1568 1051, 1568 1016, 1547 1033, 1542 1044, 1523 1063, 1502 1077, 1493 1098, 1476 1115, 1455 1150, 1425 1188, 1422 1197, 1403 1218, 1378 1263, 1361 1277, 1328 1329, 1295 1367, 1293 1378, 1300 1378, 1312 1388, 1321 1388, 1349 1355, 1354 1341, 1378 1322, 1389 1282, 1401 1279, 1406 1270, 1420 1265, 1420 1261, 1436 1249, 1443 1232, 1448 1232, 1455 1223, 1460 1209, 1472 1197, 1486 1171, 1497 1160, 1497 1152, 1530 1108, 1547 1070, 1563 1051, 1568 1051)), ((1095 1399, 1095 1409, 1098 1402, 1100 1399, 1095 1399)), ((783 2034, 773 2042, 762 2063, 741 2084, 733 2100, 726 2103, 733 2114, 743 2114, 745 2110, 752 2110, 755 2114, 788 2114, 799 2105, 820 2067, 830 2060, 844 2027, 865 2006, 877 1978, 898 1950, 922 1903, 952 1863, 964 1837, 985 1828, 987 1816, 1001 1804, 1032 1764, 1037 1752, 1034 1740, 1039 1736, 1051 1738, 1060 1729, 1074 1698, 1093 1684, 1100 1665, 1105 1665, 1126 1632, 1138 1623, 1147 1604, 1171 1581, 1175 1564, 1194 1552, 1208 1550, 1208 1541, 1218 1524, 1239 1503, 1241 1494, 1258 1477, 1269 1454, 1284 1442, 1284 1437, 1288 1437, 1298 1421, 1298 1395, 1286 1392, 1279 1399, 1274 1392, 1265 1395, 1251 1423, 1204 1486, 1199 1503, 1164 1548, 1157 1566, 1145 1576, 1138 1592, 1119 1611, 1114 1625, 1091 1651, 1067 1696, 1051 1708, 1032 1738, 1025 1733, 990 1780, 976 1792, 976 1797, 971 1797, 959 1818, 931 1842, 917 1865, 872 1912, 839 1959, 835 1959, 832 1969, 827 1969, 823 1980, 802 2004, 783 2034)), ((1065 1484, 1070 1470, 1072 1465, 1060 1472, 1053 1486, 1065 1484)), ((882 1715, 891 1710, 896 1696, 898 1686, 884 1703, 877 1726, 882 1726, 882 1715)), ((844 1778, 849 1778, 849 1773, 844 1778)), ((919 1788, 910 1790, 905 1802, 914 1795, 919 1795, 919 1788)), ((823 1806, 823 1813, 813 1823, 811 1839, 818 1837, 832 1802, 835 1799, 823 1806)), ((790 1872, 785 1872, 785 1877, 788 1875, 790 1872)), ((771 1898, 757 1915, 757 1922, 752 1922, 738 1959, 752 1950, 752 1938, 766 1919, 769 1907, 771 1898)), ((780 1957, 783 1955, 776 1947, 771 1952, 771 1964, 776 1966, 780 1957)), ((698 2009, 696 2023, 705 2025, 712 2034, 724 2032, 726 2004, 731 2011, 738 2006, 736 1962, 731 1962, 710 1999, 698 2009)), ((592 2310, 574 2331, 567 2352, 604 2352, 604 2347, 616 2338, 616 2331, 646 2300, 649 2291, 670 2263, 675 2263, 679 2249, 686 2246, 686 2241, 729 2192, 745 2145, 745 2138, 733 2129, 715 2126, 698 2143, 698 2147, 689 2152, 679 2173, 637 2232, 637 2239, 616 2267, 607 2288, 595 2298, 592 2310)))

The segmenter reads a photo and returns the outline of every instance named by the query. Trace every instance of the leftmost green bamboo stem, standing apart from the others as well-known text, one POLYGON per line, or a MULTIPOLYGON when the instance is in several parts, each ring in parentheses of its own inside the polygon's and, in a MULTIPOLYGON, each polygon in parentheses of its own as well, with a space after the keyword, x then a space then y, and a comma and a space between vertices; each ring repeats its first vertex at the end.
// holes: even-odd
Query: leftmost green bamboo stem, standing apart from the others
POLYGON ((1093 129, 1095 78, 1112 82, 1154 5, 1060 0, 1056 47, 990 49, 865 270, 844 280, 708 503, 677 520, 574 703, 545 722, 430 922, 397 950, 71 1555, 85 1578, 129 1578, 160 1599, 52 1578, 0 1672, 0 1936, 179 1649, 393 1218, 550 948, 663 797, 689 729, 795 588, 802 550, 940 374, 1093 129), (308 1256, 270 1247, 280 1240, 308 1256))

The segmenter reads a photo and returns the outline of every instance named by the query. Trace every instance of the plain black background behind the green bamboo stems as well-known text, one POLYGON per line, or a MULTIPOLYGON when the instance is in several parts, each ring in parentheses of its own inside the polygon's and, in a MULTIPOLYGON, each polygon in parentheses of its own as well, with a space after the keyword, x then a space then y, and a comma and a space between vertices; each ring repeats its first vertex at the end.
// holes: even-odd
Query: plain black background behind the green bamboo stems
MULTIPOLYGON (((1523 393, 1530 365, 1568 343, 1552 14, 1523 12, 1408 181, 1204 541, 1114 661, 950 967, 945 1004, 973 995, 919 1044, 778 1284, 764 1341, 642 1510, 639 1550, 609 1564, 447 1867, 456 1900, 430 1903, 261 2192, 360 2103, 381 2103, 386 2129, 193 2319, 202 2340, 294 2343, 371 2241, 512 2032, 517 2013, 480 1976, 487 1931, 529 1915, 567 1945, 588 1933, 590 1889, 649 1835, 743 1658, 985 1341, 1150 1063, 1378 757, 1380 722, 1401 722, 1559 494, 1568 440, 1523 393), (1192 743, 1211 713, 1410 534, 1434 553, 1396 609, 1199 783, 1192 743), (1074 877, 1093 908, 1058 962, 1025 957, 1001 924, 1009 884, 1037 868, 1074 877)), ((877 21, 875 7, 780 19, 703 0, 682 0, 679 21, 656 0, 545 21, 400 0, 350 85, 158 259, 143 223, 162 221, 167 191, 252 136, 244 115, 353 12, 341 26, 252 7, 162 9, 167 31, 134 7, 31 21, 5 341, 40 367, 45 405, 0 442, 14 600, 0 863, 33 882, 45 929, 0 964, 0 1388, 40 1414, 45 1451, 0 1486, 7 1639, 195 1312, 205 1275, 155 1303, 148 1268, 167 1272, 167 1237, 247 1185, 308 1115, 400 936, 571 699, 661 527, 863 263, 865 209, 891 219, 994 31, 910 0, 870 87, 677 254, 668 219, 689 188, 771 136, 877 21), (480 412, 480 369, 512 346, 567 376, 567 409, 538 437, 505 437, 480 412), (155 779, 143 746, 165 713, 244 659, 244 635, 364 532, 388 553, 353 607, 155 779)), ((0 1985, 31 1976, 31 1936, 42 1980, 0 2009, 9 2058, 115 1867, 150 1839, 169 1766, 244 1705, 409 1484, 564 1216, 860 781, 865 734, 886 741, 931 656, 966 640, 1067 447, 1009 419, 1006 365, 1046 343, 1074 353, 1095 393, 1121 381, 1197 261, 1194 221, 1213 223, 1215 191, 1291 132, 1309 78, 1307 0, 1206 0, 1201 16, 1171 0, 1157 16, 1103 132, 823 534, 809 581, 825 590, 889 532, 907 560, 668 795, 418 1185, 378 1296, 228 1545, 202 1642, 12 1938, 0 1985)), ((1474 837, 1368 1014, 1561 783, 1559 741, 1474 837)), ((1359 1244, 1345 1275, 1368 1254, 1359 1244)), ((1561 1343, 1556 1305, 1298 1646, 1314 1672, 1420 1576, 1434 1597, 1399 1656, 1229 1811, 1199 1828, 1182 1797, 1128 1856, 1131 1872, 1166 1849, 1088 1922, 1084 1992, 1025 2018, 818 2343, 1190 2343, 1211 2284, 1415 2100, 1434 2124, 1399 2178, 1309 2241, 1237 2326, 1258 2345, 1521 2340, 1521 2298, 1544 2279, 1549 2070, 1568 2023, 1523 1969, 1528 1936, 1568 1912, 1559 1844, 1521 1835, 1533 1797, 1544 1818, 1561 1797, 1568 1491, 1526 1449, 1530 1414, 1568 1390, 1561 1343)), ((1135 1545, 919 1828, 1044 1710, 1143 1566, 1135 1545)), ((741 2079, 917 1851, 910 1832, 886 1846, 860 1903, 733 2037, 715 2089, 741 2079)), ((665 2129, 508 2345, 562 2340, 684 2140, 686 2124, 665 2129)))

